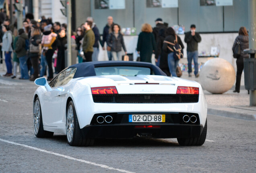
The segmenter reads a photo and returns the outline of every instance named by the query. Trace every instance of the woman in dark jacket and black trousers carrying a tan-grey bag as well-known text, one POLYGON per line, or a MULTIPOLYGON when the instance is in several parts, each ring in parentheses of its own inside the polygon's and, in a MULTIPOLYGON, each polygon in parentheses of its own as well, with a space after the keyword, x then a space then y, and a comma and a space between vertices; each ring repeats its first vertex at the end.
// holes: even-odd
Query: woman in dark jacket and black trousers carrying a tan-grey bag
POLYGON ((29 40, 29 59, 34 69, 33 75, 31 75, 30 81, 34 81, 39 77, 39 42, 40 42, 40 31, 36 25, 31 27, 31 39, 29 40))

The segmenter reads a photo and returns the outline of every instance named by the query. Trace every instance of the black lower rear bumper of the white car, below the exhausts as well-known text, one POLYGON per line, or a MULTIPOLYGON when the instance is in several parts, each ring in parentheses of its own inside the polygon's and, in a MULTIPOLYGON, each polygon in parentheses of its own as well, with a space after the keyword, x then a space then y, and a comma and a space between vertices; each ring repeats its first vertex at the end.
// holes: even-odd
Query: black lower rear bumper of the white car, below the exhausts
POLYGON ((153 138, 187 138, 199 137, 202 125, 158 125, 159 128, 136 128, 137 125, 87 125, 83 129, 86 138, 130 139, 136 136, 150 136, 153 138))

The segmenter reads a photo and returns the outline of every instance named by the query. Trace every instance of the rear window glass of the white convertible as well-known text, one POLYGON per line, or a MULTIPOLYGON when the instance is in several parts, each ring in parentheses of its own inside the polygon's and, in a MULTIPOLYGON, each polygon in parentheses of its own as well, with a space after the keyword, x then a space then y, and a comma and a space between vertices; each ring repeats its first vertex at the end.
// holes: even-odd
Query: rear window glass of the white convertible
POLYGON ((138 74, 152 75, 153 71, 148 67, 137 66, 107 66, 95 67, 97 76, 101 75, 123 75, 123 76, 136 76, 138 74))

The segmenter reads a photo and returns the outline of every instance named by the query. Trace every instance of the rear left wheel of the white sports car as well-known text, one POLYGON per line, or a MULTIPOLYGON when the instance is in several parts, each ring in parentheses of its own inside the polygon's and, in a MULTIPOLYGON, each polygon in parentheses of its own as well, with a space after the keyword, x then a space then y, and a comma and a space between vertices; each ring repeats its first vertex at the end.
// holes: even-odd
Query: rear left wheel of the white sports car
POLYGON ((71 146, 91 146, 94 143, 94 139, 88 139, 83 136, 73 101, 68 103, 66 109, 66 137, 68 144, 71 146))

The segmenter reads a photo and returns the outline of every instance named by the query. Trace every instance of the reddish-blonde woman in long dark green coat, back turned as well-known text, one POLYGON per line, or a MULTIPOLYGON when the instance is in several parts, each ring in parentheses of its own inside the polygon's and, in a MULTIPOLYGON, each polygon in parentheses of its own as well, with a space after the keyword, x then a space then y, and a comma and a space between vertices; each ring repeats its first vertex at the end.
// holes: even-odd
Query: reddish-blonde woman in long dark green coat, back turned
POLYGON ((140 54, 141 62, 151 62, 152 54, 157 49, 155 37, 152 32, 153 30, 150 24, 142 24, 137 43, 137 51, 140 54))

